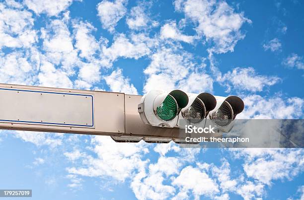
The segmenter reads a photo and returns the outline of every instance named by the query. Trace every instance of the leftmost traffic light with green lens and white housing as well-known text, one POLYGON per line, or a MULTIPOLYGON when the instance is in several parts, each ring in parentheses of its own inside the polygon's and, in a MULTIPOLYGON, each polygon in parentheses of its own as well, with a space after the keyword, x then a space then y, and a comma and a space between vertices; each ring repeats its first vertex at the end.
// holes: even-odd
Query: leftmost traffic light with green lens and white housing
POLYGON ((151 90, 142 97, 138 112, 145 124, 173 128, 181 109, 187 106, 188 101, 188 95, 181 90, 151 90))

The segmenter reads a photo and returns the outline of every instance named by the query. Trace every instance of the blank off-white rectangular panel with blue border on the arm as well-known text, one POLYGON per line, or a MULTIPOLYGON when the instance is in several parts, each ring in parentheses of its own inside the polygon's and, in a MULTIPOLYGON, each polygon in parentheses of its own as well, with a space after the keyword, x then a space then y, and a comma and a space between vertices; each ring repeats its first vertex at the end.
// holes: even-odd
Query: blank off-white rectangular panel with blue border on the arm
POLYGON ((94 128, 93 94, 0 88, 0 122, 94 128))

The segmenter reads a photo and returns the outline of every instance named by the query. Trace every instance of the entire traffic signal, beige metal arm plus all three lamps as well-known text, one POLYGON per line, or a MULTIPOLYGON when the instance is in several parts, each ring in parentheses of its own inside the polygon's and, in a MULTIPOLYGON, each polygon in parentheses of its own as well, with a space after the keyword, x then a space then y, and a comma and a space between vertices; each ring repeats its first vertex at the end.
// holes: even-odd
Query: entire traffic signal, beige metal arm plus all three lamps
POLYGON ((180 122, 229 132, 244 108, 236 96, 181 90, 140 96, 0 83, 0 97, 0 130, 109 135, 118 142, 184 143, 180 122))

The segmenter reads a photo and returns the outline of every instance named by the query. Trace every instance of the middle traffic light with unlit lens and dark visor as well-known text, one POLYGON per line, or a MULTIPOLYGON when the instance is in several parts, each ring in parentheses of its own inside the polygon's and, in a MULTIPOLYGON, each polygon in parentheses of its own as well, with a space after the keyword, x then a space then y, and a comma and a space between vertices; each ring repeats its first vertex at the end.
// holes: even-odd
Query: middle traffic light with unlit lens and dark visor
MULTIPOLYGON (((216 98, 210 93, 188 93, 188 98, 187 106, 179 114, 179 119, 184 119, 187 124, 197 125, 203 123, 208 113, 217 105, 216 98)), ((179 122, 177 126, 179 126, 179 122)))

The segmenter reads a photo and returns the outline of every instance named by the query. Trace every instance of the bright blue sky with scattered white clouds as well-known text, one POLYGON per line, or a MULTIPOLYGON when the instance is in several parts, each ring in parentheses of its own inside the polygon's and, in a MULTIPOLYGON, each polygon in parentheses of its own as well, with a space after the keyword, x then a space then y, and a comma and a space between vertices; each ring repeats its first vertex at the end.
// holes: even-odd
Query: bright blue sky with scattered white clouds
MULTIPOLYGON (((303 119, 297 0, 0 0, 0 82, 239 95, 240 119, 303 119)), ((302 149, 196 149, 0 132, 0 189, 32 199, 303 199, 302 149)))

